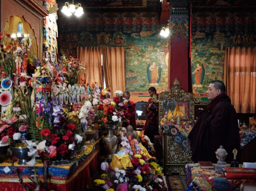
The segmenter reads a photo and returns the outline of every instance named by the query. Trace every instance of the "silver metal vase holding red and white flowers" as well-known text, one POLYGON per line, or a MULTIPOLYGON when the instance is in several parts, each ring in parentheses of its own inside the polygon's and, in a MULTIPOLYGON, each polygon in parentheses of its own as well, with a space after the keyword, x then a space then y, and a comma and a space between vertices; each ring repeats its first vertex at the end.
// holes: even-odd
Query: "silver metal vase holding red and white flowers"
POLYGON ((104 155, 107 159, 112 159, 117 148, 117 137, 113 135, 113 129, 107 129, 107 135, 102 139, 104 155))

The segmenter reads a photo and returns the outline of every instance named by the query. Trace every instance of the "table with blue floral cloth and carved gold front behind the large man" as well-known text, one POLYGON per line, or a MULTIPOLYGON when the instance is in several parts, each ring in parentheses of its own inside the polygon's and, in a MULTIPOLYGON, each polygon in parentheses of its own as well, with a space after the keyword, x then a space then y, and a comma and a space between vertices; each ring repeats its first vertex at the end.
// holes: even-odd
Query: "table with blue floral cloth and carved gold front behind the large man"
MULTIPOLYGON (((191 148, 188 134, 193 128, 193 125, 160 125, 163 132, 163 170, 164 175, 171 175, 172 173, 179 173, 185 175, 185 165, 191 163, 191 148)), ((240 145, 243 149, 253 139, 256 138, 255 130, 240 131, 240 145)), ((243 150, 242 150, 243 152, 243 150)), ((247 152, 247 151, 246 151, 247 152)), ((245 154, 243 154, 245 155, 245 154)), ((247 159, 247 158, 246 158, 247 159)), ((242 161, 248 162, 248 161, 242 161)), ((251 161, 249 161, 251 162, 251 161)))

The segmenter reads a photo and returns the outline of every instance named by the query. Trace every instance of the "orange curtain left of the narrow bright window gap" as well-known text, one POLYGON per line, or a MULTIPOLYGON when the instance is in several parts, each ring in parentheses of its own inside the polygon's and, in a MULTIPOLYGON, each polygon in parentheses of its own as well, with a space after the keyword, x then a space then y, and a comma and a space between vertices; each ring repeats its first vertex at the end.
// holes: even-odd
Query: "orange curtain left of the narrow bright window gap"
POLYGON ((80 47, 78 48, 78 58, 84 62, 85 70, 81 71, 80 78, 84 79, 86 72, 86 83, 97 82, 103 87, 101 49, 99 47, 80 47))

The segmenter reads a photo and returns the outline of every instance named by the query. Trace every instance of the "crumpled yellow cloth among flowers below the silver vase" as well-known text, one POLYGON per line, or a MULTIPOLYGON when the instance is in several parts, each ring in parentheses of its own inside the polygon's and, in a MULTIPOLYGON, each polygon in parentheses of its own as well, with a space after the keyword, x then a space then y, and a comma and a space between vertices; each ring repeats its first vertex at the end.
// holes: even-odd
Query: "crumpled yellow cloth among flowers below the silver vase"
POLYGON ((128 155, 123 155, 122 157, 114 154, 114 157, 109 165, 111 169, 119 168, 126 169, 127 167, 132 167, 132 162, 130 162, 130 158, 128 155))

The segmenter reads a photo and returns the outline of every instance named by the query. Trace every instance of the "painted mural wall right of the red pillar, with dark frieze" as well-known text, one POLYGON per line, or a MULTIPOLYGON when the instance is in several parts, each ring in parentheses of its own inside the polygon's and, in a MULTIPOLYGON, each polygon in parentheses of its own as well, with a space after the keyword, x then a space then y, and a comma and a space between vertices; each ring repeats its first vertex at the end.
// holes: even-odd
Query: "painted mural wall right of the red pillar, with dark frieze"
POLYGON ((197 13, 192 15, 193 93, 208 101, 206 91, 213 80, 223 80, 226 47, 256 46, 256 14, 197 13))

